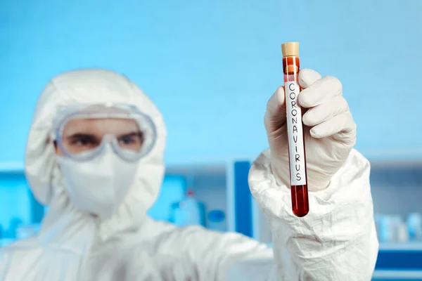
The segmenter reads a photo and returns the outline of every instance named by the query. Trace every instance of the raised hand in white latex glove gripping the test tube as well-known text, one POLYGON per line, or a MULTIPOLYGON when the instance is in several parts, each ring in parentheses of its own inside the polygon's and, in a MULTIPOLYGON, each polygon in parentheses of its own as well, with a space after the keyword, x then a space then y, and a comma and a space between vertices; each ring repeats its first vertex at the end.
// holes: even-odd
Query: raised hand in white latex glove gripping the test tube
MULTIPOLYGON (((343 165, 356 143, 356 124, 347 101, 342 96, 340 81, 331 76, 321 78, 314 70, 300 70, 302 91, 298 103, 302 116, 309 190, 326 188, 335 172, 343 165)), ((284 87, 269 99, 264 117, 271 170, 278 183, 290 186, 288 137, 284 87)))

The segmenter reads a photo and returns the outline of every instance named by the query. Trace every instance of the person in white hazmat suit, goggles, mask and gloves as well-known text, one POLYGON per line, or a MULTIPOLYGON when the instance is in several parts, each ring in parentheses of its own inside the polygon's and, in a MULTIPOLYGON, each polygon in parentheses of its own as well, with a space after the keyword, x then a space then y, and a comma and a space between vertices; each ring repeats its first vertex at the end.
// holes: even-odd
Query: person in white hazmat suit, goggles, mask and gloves
POLYGON ((284 89, 264 117, 269 150, 250 169, 272 248, 237 233, 177 228, 146 211, 164 174, 158 109, 107 70, 58 75, 39 98, 25 173, 49 205, 37 237, 1 249, 1 281, 370 280, 378 241, 369 163, 340 81, 302 70, 309 214, 292 214, 284 89))

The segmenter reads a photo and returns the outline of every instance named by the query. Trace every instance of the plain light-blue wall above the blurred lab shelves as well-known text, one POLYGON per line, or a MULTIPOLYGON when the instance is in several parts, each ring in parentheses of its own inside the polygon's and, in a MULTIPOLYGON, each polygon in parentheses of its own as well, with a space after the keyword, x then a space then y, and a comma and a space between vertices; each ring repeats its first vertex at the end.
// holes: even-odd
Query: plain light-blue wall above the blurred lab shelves
POLYGON ((422 155, 422 1, 0 1, 0 163, 23 160, 39 92, 54 75, 108 67, 167 121, 167 161, 257 155, 284 41, 303 67, 343 81, 357 148, 422 155))

